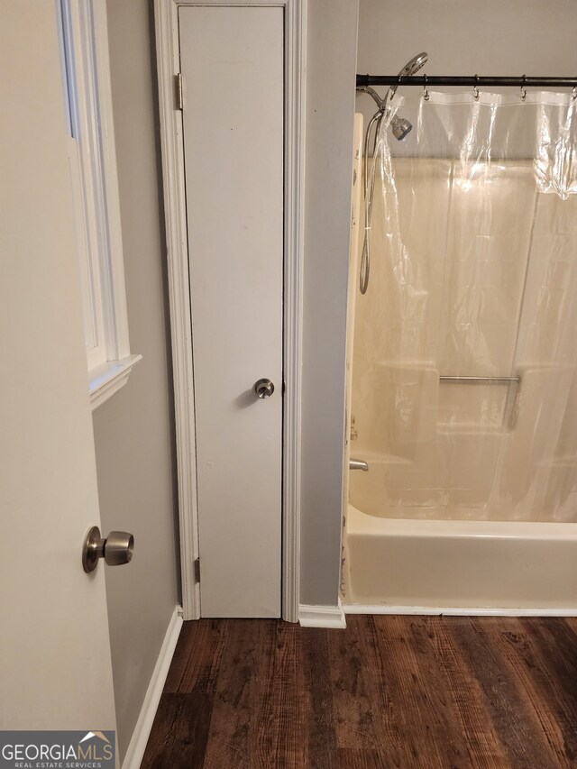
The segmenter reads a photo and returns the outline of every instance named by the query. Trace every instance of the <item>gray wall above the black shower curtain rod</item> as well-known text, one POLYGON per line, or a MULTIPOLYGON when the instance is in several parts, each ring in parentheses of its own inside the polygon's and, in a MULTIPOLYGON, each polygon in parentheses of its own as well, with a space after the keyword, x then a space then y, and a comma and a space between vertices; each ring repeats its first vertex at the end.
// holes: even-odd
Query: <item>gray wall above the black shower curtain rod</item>
MULTIPOLYGON (((571 76, 577 71, 575 0, 360 0, 359 5, 362 74, 395 75, 422 50, 429 60, 419 74, 571 76)), ((370 96, 359 96, 357 105, 365 118, 374 112, 370 96)))

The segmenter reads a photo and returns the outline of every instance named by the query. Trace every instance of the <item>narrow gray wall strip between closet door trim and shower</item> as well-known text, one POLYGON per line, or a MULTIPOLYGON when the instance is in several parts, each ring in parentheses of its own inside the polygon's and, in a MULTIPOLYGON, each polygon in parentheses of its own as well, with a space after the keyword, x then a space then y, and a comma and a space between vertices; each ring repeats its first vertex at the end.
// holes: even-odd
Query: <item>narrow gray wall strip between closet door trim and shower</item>
POLYGON ((341 565, 357 5, 308 4, 300 600, 333 606, 341 565))

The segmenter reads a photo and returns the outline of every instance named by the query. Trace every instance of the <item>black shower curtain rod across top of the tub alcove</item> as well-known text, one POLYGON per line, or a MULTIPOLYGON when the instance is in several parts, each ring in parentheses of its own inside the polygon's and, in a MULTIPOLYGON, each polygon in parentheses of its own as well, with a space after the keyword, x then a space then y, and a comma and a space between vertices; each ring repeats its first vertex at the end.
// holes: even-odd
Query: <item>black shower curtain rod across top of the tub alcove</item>
POLYGON ((477 87, 527 87, 527 88, 577 88, 573 78, 481 78, 477 75, 357 75, 357 88, 367 86, 477 86, 477 87))

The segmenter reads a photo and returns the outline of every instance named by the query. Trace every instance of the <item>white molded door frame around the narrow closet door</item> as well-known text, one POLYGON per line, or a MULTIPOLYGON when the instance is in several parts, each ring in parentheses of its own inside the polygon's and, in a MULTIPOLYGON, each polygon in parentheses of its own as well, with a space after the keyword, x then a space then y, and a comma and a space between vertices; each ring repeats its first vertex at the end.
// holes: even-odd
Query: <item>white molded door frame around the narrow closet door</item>
POLYGON ((180 71, 179 7, 190 5, 249 5, 284 9, 282 618, 297 622, 300 582, 307 0, 154 0, 179 486, 182 607, 185 619, 198 619, 200 590, 195 575, 199 544, 193 350, 188 290, 184 133, 176 79, 180 71))

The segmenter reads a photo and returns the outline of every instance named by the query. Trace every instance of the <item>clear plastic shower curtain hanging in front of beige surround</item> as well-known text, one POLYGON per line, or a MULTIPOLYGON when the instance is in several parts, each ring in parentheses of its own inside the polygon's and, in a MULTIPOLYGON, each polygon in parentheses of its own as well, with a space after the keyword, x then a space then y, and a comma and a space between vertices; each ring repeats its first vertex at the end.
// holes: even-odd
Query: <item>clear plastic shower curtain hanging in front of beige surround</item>
POLYGON ((577 521, 577 101, 395 96, 356 301, 371 515, 577 521))

